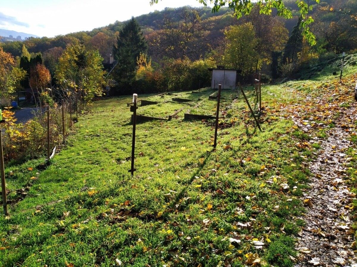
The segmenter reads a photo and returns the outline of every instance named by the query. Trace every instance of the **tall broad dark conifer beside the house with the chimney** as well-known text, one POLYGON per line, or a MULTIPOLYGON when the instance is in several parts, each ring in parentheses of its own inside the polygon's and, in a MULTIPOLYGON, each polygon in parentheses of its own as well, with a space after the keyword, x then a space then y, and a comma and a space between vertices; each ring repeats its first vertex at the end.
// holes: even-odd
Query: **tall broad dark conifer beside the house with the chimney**
POLYGON ((147 51, 147 42, 134 19, 122 28, 113 48, 114 57, 118 61, 113 75, 119 84, 119 88, 131 87, 136 73, 136 59, 140 53, 147 51))

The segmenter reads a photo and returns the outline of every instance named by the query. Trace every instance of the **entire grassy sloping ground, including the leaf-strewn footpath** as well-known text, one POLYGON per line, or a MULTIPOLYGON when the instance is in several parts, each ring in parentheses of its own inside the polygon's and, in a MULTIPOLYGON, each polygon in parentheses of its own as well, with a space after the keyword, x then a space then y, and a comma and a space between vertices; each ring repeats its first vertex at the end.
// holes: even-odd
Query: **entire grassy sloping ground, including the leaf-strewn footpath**
MULTIPOLYGON (((169 121, 137 124, 132 178, 131 97, 95 101, 50 166, 40 158, 6 168, 13 204, 10 215, 0 217, 0 262, 138 267, 332 265, 337 257, 348 262, 357 204, 357 66, 346 65, 339 83, 330 74, 338 62, 311 80, 263 85, 261 132, 242 94, 223 91, 216 149, 214 120, 184 119, 187 110, 215 114, 211 89, 174 92, 188 103, 172 101, 172 94, 139 95, 159 102, 139 106, 140 115, 166 118, 183 109, 169 121), (329 247, 344 247, 344 253, 329 247)), ((244 90, 253 103, 253 88, 244 90)))

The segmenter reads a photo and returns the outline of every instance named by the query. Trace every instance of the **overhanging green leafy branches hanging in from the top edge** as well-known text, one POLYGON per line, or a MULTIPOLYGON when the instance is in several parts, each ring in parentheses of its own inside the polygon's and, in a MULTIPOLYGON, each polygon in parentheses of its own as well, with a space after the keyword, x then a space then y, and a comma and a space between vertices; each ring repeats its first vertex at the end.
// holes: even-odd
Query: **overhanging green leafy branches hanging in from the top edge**
MULTIPOLYGON (((207 6, 208 0, 197 0, 204 6, 207 6)), ((320 0, 315 0, 317 3, 320 0)), ((159 2, 159 0, 150 0, 150 4, 153 5, 159 2)), ((234 14, 237 18, 242 17, 242 15, 249 15, 253 9, 253 1, 252 0, 210 0, 210 2, 214 3, 212 7, 212 12, 218 12, 221 7, 228 5, 230 9, 234 10, 234 14)), ((309 11, 312 10, 312 5, 309 1, 305 2, 305 0, 298 0, 296 2, 299 12, 301 24, 300 27, 302 29, 301 33, 306 38, 306 40, 310 43, 310 45, 316 44, 316 37, 310 30, 310 24, 314 21, 311 16, 307 16, 309 11)), ((292 12, 288 9, 282 0, 257 0, 256 5, 260 7, 260 14, 271 15, 272 9, 277 9, 277 15, 285 17, 286 19, 292 18, 292 12)))

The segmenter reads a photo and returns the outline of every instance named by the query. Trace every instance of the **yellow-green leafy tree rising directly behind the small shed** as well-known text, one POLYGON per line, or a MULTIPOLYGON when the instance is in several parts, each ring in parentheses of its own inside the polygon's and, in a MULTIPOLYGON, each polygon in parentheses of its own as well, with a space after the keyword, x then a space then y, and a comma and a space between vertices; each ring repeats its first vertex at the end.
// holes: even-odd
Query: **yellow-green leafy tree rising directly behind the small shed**
POLYGON ((250 74, 256 63, 258 53, 256 51, 258 38, 252 23, 231 26, 225 31, 226 49, 223 55, 223 63, 226 68, 234 68, 242 71, 242 74, 250 74))

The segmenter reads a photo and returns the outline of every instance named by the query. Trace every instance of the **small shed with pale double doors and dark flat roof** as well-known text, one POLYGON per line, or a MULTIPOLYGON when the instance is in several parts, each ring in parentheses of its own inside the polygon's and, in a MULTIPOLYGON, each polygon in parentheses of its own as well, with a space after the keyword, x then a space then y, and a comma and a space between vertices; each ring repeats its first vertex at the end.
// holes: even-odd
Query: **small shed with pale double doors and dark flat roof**
POLYGON ((222 89, 235 89, 237 83, 237 69, 209 69, 212 73, 211 89, 217 89, 222 84, 222 89))

